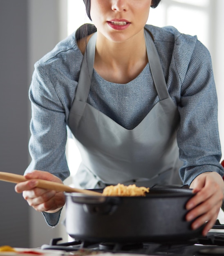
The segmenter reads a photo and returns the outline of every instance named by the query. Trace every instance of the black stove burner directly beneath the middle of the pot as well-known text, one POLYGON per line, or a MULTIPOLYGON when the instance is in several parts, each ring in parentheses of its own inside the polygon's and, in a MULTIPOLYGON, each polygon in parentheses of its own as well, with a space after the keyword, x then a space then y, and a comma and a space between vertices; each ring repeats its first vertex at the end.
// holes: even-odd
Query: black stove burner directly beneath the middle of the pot
POLYGON ((103 251, 130 251, 143 248, 143 243, 112 243, 102 242, 99 249, 103 251))

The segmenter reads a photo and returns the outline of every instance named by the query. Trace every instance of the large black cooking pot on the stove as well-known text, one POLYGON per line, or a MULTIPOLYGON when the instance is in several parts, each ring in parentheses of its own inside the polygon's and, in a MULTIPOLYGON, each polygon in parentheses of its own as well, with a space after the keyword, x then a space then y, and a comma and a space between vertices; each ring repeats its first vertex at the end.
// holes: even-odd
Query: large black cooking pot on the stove
POLYGON ((66 195, 66 230, 77 240, 168 242, 202 234, 185 216, 191 189, 151 188, 146 197, 66 195))

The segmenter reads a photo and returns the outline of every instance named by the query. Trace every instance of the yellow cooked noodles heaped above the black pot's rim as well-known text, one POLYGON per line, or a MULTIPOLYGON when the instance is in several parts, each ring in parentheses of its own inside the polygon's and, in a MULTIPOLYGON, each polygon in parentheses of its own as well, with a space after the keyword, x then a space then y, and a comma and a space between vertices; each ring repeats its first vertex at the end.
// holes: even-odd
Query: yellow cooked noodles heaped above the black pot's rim
POLYGON ((103 189, 103 195, 106 196, 145 196, 148 192, 149 188, 137 187, 135 184, 125 186, 119 183, 116 186, 111 185, 103 189))

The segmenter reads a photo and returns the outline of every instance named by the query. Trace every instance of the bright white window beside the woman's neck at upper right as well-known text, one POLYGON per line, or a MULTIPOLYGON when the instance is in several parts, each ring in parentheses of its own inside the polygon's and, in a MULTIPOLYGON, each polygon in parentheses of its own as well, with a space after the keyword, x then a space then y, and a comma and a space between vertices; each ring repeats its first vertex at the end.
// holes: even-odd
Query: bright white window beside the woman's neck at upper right
POLYGON ((148 24, 159 27, 173 26, 181 33, 197 35, 198 39, 209 48, 210 1, 161 0, 156 9, 150 10, 148 24))

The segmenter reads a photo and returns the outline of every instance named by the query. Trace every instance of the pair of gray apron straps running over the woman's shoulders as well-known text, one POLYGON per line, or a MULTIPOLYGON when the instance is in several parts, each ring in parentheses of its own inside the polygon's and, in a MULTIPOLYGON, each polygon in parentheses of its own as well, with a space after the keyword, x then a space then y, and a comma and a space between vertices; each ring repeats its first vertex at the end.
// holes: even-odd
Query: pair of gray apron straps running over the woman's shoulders
MULTIPOLYGON (((165 81, 164 72, 161 66, 159 54, 152 40, 152 37, 150 36, 150 32, 145 29, 144 33, 145 33, 145 40, 146 40, 146 51, 148 56, 148 62, 149 62, 150 70, 152 73, 152 79, 155 83, 155 88, 157 90, 160 100, 167 99, 170 97, 170 95, 166 87, 166 81, 165 81)), ((78 101, 86 102, 89 95, 90 85, 92 80, 92 73, 93 73, 93 66, 94 66, 95 50, 96 50, 96 37, 97 37, 97 32, 95 32, 91 36, 87 44, 85 54, 83 56, 83 62, 81 65, 81 71, 80 71, 78 85, 76 89, 76 95, 75 95, 75 100, 78 100, 78 101)))

